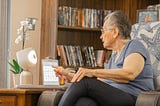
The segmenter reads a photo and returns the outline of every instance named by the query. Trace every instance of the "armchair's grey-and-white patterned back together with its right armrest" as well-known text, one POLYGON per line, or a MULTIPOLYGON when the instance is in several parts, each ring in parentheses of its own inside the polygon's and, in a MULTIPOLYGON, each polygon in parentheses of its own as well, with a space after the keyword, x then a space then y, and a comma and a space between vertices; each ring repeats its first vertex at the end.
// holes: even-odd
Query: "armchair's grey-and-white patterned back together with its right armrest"
POLYGON ((156 89, 141 93, 136 106, 160 106, 160 21, 133 25, 131 38, 140 40, 149 51, 156 89))

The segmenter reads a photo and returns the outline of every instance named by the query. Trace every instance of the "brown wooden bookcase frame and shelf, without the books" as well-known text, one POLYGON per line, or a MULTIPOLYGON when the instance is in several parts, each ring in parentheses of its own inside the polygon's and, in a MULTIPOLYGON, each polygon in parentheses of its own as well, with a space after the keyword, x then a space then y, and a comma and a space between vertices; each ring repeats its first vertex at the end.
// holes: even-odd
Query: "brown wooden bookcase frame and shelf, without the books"
POLYGON ((99 28, 71 27, 58 25, 58 7, 122 10, 136 22, 136 10, 157 4, 159 0, 42 0, 42 25, 40 59, 47 56, 57 57, 57 45, 93 46, 103 49, 99 39, 99 28))

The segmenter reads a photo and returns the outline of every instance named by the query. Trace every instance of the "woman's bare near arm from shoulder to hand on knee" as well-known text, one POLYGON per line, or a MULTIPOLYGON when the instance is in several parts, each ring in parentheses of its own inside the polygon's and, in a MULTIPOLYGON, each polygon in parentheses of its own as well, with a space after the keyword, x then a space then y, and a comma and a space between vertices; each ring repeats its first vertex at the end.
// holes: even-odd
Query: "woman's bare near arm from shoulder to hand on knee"
POLYGON ((132 53, 126 57, 122 68, 119 69, 86 69, 80 68, 74 75, 72 82, 80 81, 84 76, 99 77, 116 82, 127 83, 134 80, 144 67, 144 57, 139 53, 132 53))

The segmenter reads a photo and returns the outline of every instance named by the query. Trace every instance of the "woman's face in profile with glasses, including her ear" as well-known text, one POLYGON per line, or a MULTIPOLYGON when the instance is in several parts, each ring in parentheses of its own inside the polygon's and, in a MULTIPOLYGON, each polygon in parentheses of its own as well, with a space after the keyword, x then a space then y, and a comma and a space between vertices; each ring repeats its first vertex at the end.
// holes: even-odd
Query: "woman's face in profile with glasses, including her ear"
POLYGON ((107 23, 105 22, 103 25, 103 28, 101 29, 101 36, 100 39, 103 42, 103 47, 106 49, 112 48, 115 38, 113 37, 114 31, 113 29, 108 29, 107 28, 107 23))

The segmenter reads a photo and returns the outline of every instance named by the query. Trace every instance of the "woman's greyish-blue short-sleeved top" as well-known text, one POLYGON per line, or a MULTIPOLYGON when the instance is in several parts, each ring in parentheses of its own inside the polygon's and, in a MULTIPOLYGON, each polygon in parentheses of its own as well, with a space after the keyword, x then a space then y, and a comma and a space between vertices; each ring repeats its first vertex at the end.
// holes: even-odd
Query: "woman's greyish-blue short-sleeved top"
POLYGON ((153 70, 149 53, 144 45, 138 40, 129 41, 123 48, 120 57, 116 62, 116 52, 113 52, 106 68, 122 68, 124 59, 131 53, 139 53, 144 57, 145 63, 142 72, 133 81, 129 81, 128 83, 118 83, 107 79, 104 80, 104 82, 134 96, 137 96, 142 91, 154 90, 153 70))

